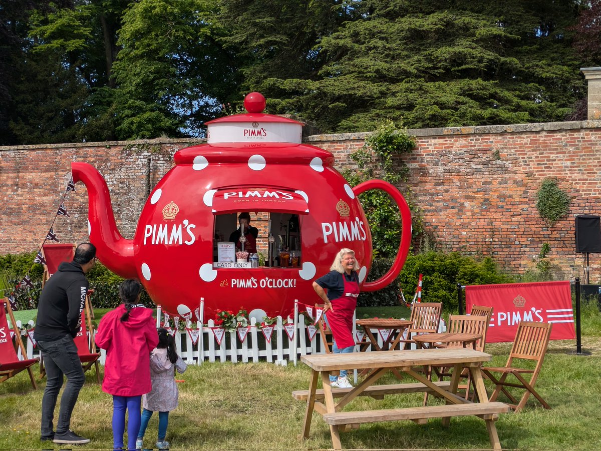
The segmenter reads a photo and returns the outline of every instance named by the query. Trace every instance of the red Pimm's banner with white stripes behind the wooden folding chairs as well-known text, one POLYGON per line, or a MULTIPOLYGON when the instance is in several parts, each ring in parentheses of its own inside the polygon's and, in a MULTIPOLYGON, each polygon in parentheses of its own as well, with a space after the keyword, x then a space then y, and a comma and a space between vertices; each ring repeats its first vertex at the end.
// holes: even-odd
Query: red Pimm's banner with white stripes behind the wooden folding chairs
POLYGON ((466 286, 465 304, 493 307, 487 343, 513 341, 520 321, 551 322, 552 340, 576 338, 569 280, 466 286))

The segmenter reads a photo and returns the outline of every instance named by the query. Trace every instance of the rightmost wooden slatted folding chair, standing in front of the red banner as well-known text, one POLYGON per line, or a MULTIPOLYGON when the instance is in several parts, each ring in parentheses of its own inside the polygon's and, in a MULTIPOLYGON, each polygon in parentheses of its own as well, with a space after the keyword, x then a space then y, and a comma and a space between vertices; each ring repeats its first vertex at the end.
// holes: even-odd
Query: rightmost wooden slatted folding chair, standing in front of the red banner
POLYGON ((551 408, 549 407, 549 404, 538 395, 536 390, 534 390, 534 384, 540 373, 540 368, 543 366, 543 360, 545 359, 545 354, 549 345, 551 325, 550 322, 521 321, 517 326, 516 337, 513 341, 513 346, 511 347, 511 352, 505 366, 499 368, 482 368, 484 377, 490 379, 492 383, 495 384, 495 390, 490 396, 490 401, 495 401, 499 396, 499 393, 503 392, 505 393, 505 396, 513 402, 513 404, 509 404, 511 408, 513 408, 514 411, 519 412, 526 405, 526 401, 528 401, 528 398, 532 393, 532 395, 540 401, 540 404, 542 404, 543 407, 546 409, 551 408), (518 362, 521 362, 522 360, 534 360, 534 369, 515 366, 516 360, 518 362), (493 373, 501 373, 501 377, 497 379, 493 373), (532 377, 529 381, 526 381, 523 374, 531 374, 532 377), (507 377, 509 375, 513 375, 517 379, 517 382, 507 382, 507 377), (517 402, 517 399, 514 398, 505 387, 516 387, 526 391, 523 394, 522 399, 517 402))

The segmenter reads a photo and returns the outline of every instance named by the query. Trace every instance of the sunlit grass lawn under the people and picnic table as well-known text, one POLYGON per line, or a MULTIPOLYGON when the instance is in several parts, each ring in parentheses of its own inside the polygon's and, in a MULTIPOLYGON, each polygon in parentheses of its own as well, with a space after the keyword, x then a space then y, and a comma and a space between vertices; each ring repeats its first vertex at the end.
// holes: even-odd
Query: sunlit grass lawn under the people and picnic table
MULTIPOLYGON (((376 315, 389 317, 395 315, 376 315)), ((401 315, 405 316, 405 314, 401 315)), ((361 315, 357 315, 362 318, 361 315)), ((537 390, 551 405, 545 410, 531 396, 519 414, 501 414, 496 422, 504 449, 599 450, 601 449, 601 315, 583 314, 583 348, 591 356, 576 356, 574 341, 554 341, 537 381, 537 390)), ((490 365, 505 364, 510 344, 489 344, 490 365)), ((37 371, 37 366, 34 367, 37 371)), ((203 363, 189 366, 180 384, 180 405, 169 417, 167 440, 172 450, 314 450, 331 447, 329 429, 317 414, 311 437, 299 441, 305 411, 294 401, 293 390, 307 389, 309 369, 275 366, 271 363, 203 363)), ((382 383, 394 383, 386 376, 382 383)), ((0 384, 0 449, 41 449, 40 405, 44 382, 32 390, 26 372, 0 384)), ((490 387, 489 387, 490 388, 490 387)), ((414 407, 422 395, 387 396, 385 401, 360 398, 353 408, 414 407)), ((499 401, 503 401, 500 398, 499 401)), ((433 399, 430 402, 441 402, 433 399)), ((58 412, 58 407, 57 407, 58 412)), ((90 437, 90 444, 74 449, 111 449, 112 402, 88 372, 79 396, 72 429, 90 437)), ((157 416, 153 416, 145 444, 154 444, 157 416)), ((341 433, 343 449, 487 449, 490 446, 484 422, 476 417, 451 420, 450 428, 440 419, 426 425, 412 422, 372 423, 341 433)), ((44 449, 58 450, 50 442, 44 449)))

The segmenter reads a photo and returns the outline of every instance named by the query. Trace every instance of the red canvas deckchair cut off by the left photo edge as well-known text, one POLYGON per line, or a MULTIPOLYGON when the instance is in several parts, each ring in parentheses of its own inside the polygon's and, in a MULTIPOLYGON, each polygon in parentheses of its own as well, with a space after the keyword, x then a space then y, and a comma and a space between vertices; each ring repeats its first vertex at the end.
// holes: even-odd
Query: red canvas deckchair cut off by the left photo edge
POLYGON ((21 341, 21 333, 19 328, 17 328, 16 321, 14 321, 13 310, 10 307, 10 303, 7 299, 0 299, 0 383, 26 369, 29 373, 31 385, 34 387, 34 390, 37 389, 31 366, 40 359, 37 357, 35 359, 25 359, 25 356, 27 356, 27 351, 21 341), (6 311, 4 310, 4 307, 6 307, 6 311), (7 312, 10 317, 11 328, 8 327, 6 319, 7 312), (19 356, 17 356, 13 340, 10 336, 10 329, 14 331, 14 339, 21 350, 23 360, 19 360, 19 356))

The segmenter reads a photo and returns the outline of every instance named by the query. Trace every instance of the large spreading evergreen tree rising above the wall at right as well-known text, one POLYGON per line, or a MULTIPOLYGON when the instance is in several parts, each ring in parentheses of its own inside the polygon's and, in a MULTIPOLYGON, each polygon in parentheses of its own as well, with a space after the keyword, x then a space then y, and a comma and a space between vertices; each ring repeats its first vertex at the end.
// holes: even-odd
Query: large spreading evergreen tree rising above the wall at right
POLYGON ((317 71, 261 77, 277 112, 337 132, 382 118, 469 126, 562 120, 582 96, 569 30, 578 2, 346 3, 352 18, 313 47, 317 71))

